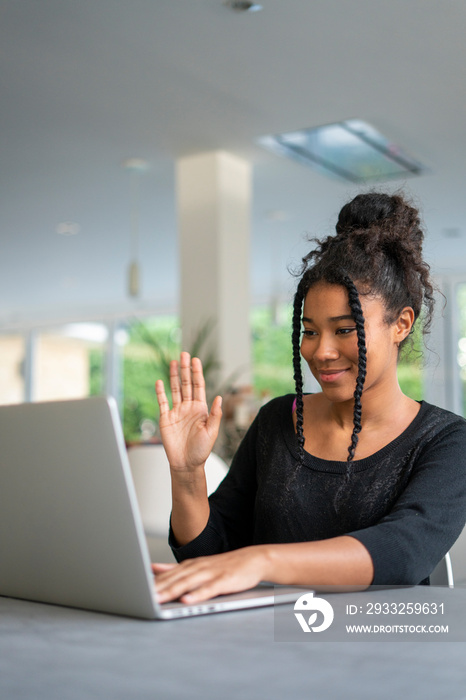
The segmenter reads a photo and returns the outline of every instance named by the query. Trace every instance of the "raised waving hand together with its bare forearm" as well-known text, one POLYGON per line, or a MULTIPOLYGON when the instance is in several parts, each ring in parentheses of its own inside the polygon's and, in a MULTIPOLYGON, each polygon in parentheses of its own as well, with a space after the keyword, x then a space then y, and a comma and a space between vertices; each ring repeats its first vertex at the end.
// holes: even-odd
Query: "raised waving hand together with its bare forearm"
POLYGON ((180 546, 191 542, 209 519, 204 465, 217 439, 222 399, 217 396, 209 413, 201 361, 182 352, 170 364, 170 410, 163 381, 155 385, 160 408, 160 432, 172 480, 171 527, 180 546))

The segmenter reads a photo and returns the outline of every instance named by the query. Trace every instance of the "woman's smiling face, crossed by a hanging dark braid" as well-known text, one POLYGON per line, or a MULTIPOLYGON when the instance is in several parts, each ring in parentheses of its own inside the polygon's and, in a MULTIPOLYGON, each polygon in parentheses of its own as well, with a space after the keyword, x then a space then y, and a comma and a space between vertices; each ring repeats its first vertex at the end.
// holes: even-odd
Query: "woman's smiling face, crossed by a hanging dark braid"
MULTIPOLYGON (((365 320, 367 373, 364 392, 382 393, 397 383, 399 343, 412 325, 389 325, 378 297, 361 296, 365 320)), ((400 317, 401 318, 401 317, 400 317)), ((304 300, 301 354, 332 402, 352 400, 358 376, 358 338, 346 288, 319 282, 304 300)))

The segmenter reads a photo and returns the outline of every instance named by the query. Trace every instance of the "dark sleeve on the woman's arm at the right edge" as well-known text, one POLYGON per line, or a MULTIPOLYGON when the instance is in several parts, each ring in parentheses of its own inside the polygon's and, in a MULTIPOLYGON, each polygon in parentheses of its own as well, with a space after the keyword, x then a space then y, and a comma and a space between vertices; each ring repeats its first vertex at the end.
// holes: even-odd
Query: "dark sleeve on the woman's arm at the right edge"
POLYGON ((378 523, 348 534, 369 551, 374 585, 424 580, 466 521, 466 429, 446 427, 418 456, 409 483, 378 523))

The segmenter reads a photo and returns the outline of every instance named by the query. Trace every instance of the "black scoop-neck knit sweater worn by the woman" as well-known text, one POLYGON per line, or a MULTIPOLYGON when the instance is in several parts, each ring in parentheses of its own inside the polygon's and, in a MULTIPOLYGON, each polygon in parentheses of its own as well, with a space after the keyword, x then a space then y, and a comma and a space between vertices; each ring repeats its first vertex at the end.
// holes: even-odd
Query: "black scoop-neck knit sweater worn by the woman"
POLYGON ((466 421, 421 402, 408 428, 381 450, 346 462, 305 454, 299 465, 293 395, 273 399, 249 429, 210 496, 210 518, 178 561, 251 544, 350 535, 369 551, 373 584, 424 582, 466 520, 466 421))

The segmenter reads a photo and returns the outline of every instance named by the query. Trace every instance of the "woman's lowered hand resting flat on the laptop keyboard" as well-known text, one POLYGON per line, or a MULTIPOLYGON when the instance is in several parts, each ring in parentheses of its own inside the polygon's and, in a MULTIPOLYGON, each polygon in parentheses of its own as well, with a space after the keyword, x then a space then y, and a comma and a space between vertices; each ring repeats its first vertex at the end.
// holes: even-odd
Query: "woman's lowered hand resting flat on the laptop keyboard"
POLYGON ((267 559, 266 546, 254 545, 181 564, 152 564, 158 600, 199 603, 253 588, 266 578, 267 559))

